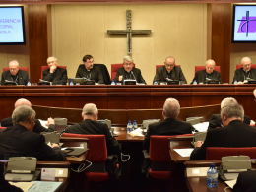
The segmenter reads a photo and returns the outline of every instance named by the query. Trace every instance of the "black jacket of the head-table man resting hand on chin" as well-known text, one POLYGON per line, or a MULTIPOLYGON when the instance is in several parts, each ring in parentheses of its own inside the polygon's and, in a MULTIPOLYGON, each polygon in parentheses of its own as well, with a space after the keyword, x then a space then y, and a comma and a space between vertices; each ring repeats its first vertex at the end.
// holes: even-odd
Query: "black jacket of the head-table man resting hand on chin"
POLYGON ((53 73, 50 73, 50 69, 44 70, 42 76, 43 80, 52 82, 52 85, 66 85, 68 81, 67 70, 59 67, 53 73))

